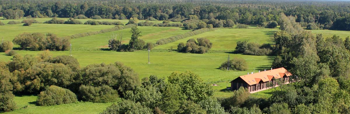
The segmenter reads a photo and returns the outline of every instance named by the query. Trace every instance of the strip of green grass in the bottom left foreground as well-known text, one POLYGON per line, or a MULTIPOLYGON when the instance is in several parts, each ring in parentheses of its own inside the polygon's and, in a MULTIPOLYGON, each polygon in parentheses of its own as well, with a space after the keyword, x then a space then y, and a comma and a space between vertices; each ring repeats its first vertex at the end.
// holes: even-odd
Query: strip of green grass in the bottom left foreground
POLYGON ((18 109, 3 114, 98 114, 113 104, 76 102, 56 106, 36 106, 36 98, 37 96, 16 96, 14 100, 18 109))

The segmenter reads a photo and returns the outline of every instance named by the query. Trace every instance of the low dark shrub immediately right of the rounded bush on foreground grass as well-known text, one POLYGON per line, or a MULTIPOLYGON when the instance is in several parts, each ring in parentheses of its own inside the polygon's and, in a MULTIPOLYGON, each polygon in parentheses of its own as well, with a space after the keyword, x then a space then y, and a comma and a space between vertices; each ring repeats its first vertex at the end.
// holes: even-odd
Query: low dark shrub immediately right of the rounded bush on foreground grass
POLYGON ((99 87, 82 85, 79 88, 79 95, 83 101, 94 103, 115 102, 119 98, 117 90, 106 85, 99 87))

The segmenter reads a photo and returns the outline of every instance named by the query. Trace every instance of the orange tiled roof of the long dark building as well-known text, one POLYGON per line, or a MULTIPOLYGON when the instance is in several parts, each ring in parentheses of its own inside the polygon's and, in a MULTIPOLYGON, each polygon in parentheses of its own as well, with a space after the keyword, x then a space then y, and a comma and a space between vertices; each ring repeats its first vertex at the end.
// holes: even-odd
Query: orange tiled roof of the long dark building
POLYGON ((239 77, 249 85, 253 85, 253 84, 259 83, 260 80, 262 80, 263 82, 267 82, 272 80, 272 78, 275 78, 275 79, 282 78, 284 75, 290 76, 292 74, 290 74, 285 68, 282 67, 282 68, 276 68, 268 71, 261 71, 259 73, 243 75, 239 77))

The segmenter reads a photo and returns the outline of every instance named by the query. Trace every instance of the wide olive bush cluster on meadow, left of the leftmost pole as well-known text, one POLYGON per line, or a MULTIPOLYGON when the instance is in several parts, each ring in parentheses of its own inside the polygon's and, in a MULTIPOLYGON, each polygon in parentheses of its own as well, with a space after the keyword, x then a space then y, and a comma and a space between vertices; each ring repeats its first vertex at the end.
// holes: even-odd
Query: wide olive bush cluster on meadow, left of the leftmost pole
POLYGON ((55 34, 48 33, 46 37, 42 33, 22 33, 13 39, 15 44, 22 49, 29 50, 68 50, 70 39, 59 38, 55 34))

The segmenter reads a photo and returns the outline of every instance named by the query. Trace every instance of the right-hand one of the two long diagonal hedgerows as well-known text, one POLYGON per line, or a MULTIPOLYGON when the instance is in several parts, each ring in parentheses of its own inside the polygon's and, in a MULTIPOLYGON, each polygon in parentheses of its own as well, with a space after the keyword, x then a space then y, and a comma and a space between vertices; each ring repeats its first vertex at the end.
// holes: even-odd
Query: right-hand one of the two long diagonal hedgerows
POLYGON ((210 29, 208 29, 208 28, 198 29, 198 30, 190 31, 190 32, 187 32, 187 33, 184 33, 184 34, 171 36, 169 38, 160 39, 160 40, 158 40, 156 42, 156 44, 163 45, 163 44, 175 42, 177 40, 180 40, 180 39, 183 39, 183 38, 187 38, 187 37, 190 37, 190 36, 194 36, 194 35, 197 35, 197 34, 201 34, 201 33, 204 33, 204 32, 208 32, 208 31, 210 31, 210 29))

